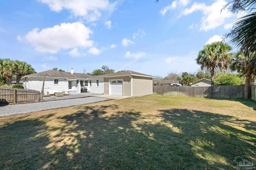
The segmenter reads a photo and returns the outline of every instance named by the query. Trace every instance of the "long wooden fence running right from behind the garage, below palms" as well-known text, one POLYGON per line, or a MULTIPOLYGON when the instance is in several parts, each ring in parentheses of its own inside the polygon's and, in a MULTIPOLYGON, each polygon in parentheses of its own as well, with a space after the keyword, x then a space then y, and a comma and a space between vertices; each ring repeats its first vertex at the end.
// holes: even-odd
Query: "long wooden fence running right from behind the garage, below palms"
POLYGON ((153 86, 153 93, 196 98, 244 98, 244 86, 153 86))

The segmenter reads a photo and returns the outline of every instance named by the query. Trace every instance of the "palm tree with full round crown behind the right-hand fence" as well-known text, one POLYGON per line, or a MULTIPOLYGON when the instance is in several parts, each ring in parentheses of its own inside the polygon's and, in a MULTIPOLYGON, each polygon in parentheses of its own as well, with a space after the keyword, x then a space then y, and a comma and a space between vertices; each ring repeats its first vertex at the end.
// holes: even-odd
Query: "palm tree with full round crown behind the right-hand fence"
POLYGON ((200 50, 196 63, 201 65, 201 69, 204 67, 211 73, 211 86, 214 86, 214 71, 216 68, 225 70, 228 68, 232 59, 232 50, 227 43, 214 42, 204 46, 204 49, 200 50))

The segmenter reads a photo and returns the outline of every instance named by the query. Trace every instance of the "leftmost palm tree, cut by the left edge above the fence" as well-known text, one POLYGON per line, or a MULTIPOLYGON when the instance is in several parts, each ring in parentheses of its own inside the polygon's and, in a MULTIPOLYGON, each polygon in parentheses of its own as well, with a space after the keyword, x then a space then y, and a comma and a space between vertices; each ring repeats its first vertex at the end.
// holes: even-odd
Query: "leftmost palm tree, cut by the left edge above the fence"
POLYGON ((12 84, 13 73, 13 61, 10 59, 0 59, 0 75, 5 78, 8 86, 12 84))

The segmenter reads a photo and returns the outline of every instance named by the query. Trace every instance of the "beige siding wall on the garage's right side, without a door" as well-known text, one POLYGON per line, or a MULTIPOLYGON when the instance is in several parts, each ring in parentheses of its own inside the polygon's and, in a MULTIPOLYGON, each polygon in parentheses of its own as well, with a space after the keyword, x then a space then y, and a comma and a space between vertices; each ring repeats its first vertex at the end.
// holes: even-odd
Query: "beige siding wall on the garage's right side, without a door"
POLYGON ((152 78, 133 76, 133 97, 153 94, 152 78))

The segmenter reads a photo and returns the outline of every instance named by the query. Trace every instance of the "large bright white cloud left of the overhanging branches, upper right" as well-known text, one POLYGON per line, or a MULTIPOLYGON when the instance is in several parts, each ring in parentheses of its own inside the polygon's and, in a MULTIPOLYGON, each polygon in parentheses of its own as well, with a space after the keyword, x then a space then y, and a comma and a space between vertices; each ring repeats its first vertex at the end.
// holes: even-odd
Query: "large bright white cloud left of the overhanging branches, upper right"
POLYGON ((216 0, 210 6, 207 6, 204 3, 194 2, 190 8, 186 8, 186 10, 183 11, 183 15, 189 15, 196 11, 202 11, 204 16, 201 18, 200 31, 208 31, 222 25, 227 18, 233 16, 227 9, 222 10, 220 13, 220 10, 226 4, 227 2, 225 0, 216 0))

